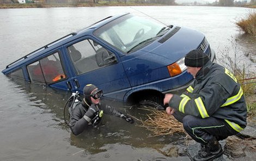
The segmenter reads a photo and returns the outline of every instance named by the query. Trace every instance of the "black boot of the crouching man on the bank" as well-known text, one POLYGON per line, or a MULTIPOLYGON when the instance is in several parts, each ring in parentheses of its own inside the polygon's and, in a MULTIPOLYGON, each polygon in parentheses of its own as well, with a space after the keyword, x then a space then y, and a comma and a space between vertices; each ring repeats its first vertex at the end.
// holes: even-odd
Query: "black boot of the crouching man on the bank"
POLYGON ((202 147, 193 159, 195 161, 214 160, 215 158, 220 157, 223 152, 220 143, 218 143, 216 139, 212 139, 202 147))

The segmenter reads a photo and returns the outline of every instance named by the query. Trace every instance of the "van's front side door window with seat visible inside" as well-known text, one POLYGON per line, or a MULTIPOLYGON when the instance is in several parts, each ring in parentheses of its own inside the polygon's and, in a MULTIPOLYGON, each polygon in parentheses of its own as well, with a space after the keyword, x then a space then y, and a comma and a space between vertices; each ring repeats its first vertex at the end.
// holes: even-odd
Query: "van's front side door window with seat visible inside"
POLYGON ((111 62, 106 60, 111 53, 93 40, 77 42, 67 49, 78 75, 111 65, 111 62))

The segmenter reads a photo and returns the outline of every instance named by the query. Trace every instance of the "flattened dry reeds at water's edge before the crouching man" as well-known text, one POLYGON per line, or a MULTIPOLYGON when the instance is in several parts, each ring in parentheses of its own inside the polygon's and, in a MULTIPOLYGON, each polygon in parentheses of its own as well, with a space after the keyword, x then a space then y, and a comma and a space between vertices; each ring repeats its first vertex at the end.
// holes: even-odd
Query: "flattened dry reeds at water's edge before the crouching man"
POLYGON ((172 135, 173 133, 179 132, 185 133, 182 123, 177 121, 172 115, 167 115, 166 112, 156 109, 144 110, 149 110, 151 113, 147 114, 147 120, 139 120, 142 122, 140 127, 147 128, 149 131, 153 132, 154 136, 172 135))

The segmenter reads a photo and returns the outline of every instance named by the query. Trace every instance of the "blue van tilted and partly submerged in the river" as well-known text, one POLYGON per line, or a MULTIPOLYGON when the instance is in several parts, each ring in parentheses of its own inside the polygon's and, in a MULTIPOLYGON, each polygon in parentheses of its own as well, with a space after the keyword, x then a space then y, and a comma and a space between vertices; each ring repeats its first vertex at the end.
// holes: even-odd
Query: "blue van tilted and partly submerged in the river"
POLYGON ((110 16, 7 65, 4 75, 79 91, 93 83, 104 97, 162 106, 164 93, 193 80, 184 57, 200 49, 215 61, 204 34, 129 13, 110 16))

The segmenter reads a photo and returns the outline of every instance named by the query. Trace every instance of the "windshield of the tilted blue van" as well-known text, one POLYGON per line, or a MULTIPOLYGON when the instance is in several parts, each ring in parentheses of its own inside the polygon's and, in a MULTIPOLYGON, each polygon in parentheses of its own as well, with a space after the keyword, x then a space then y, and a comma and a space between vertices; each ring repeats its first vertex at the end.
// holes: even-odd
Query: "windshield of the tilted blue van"
POLYGON ((142 48, 149 45, 149 43, 142 44, 141 42, 159 36, 157 34, 162 28, 164 25, 161 23, 142 17, 125 15, 95 30, 94 35, 124 53, 128 53, 131 52, 131 49, 132 51, 139 49, 137 46, 142 48))

